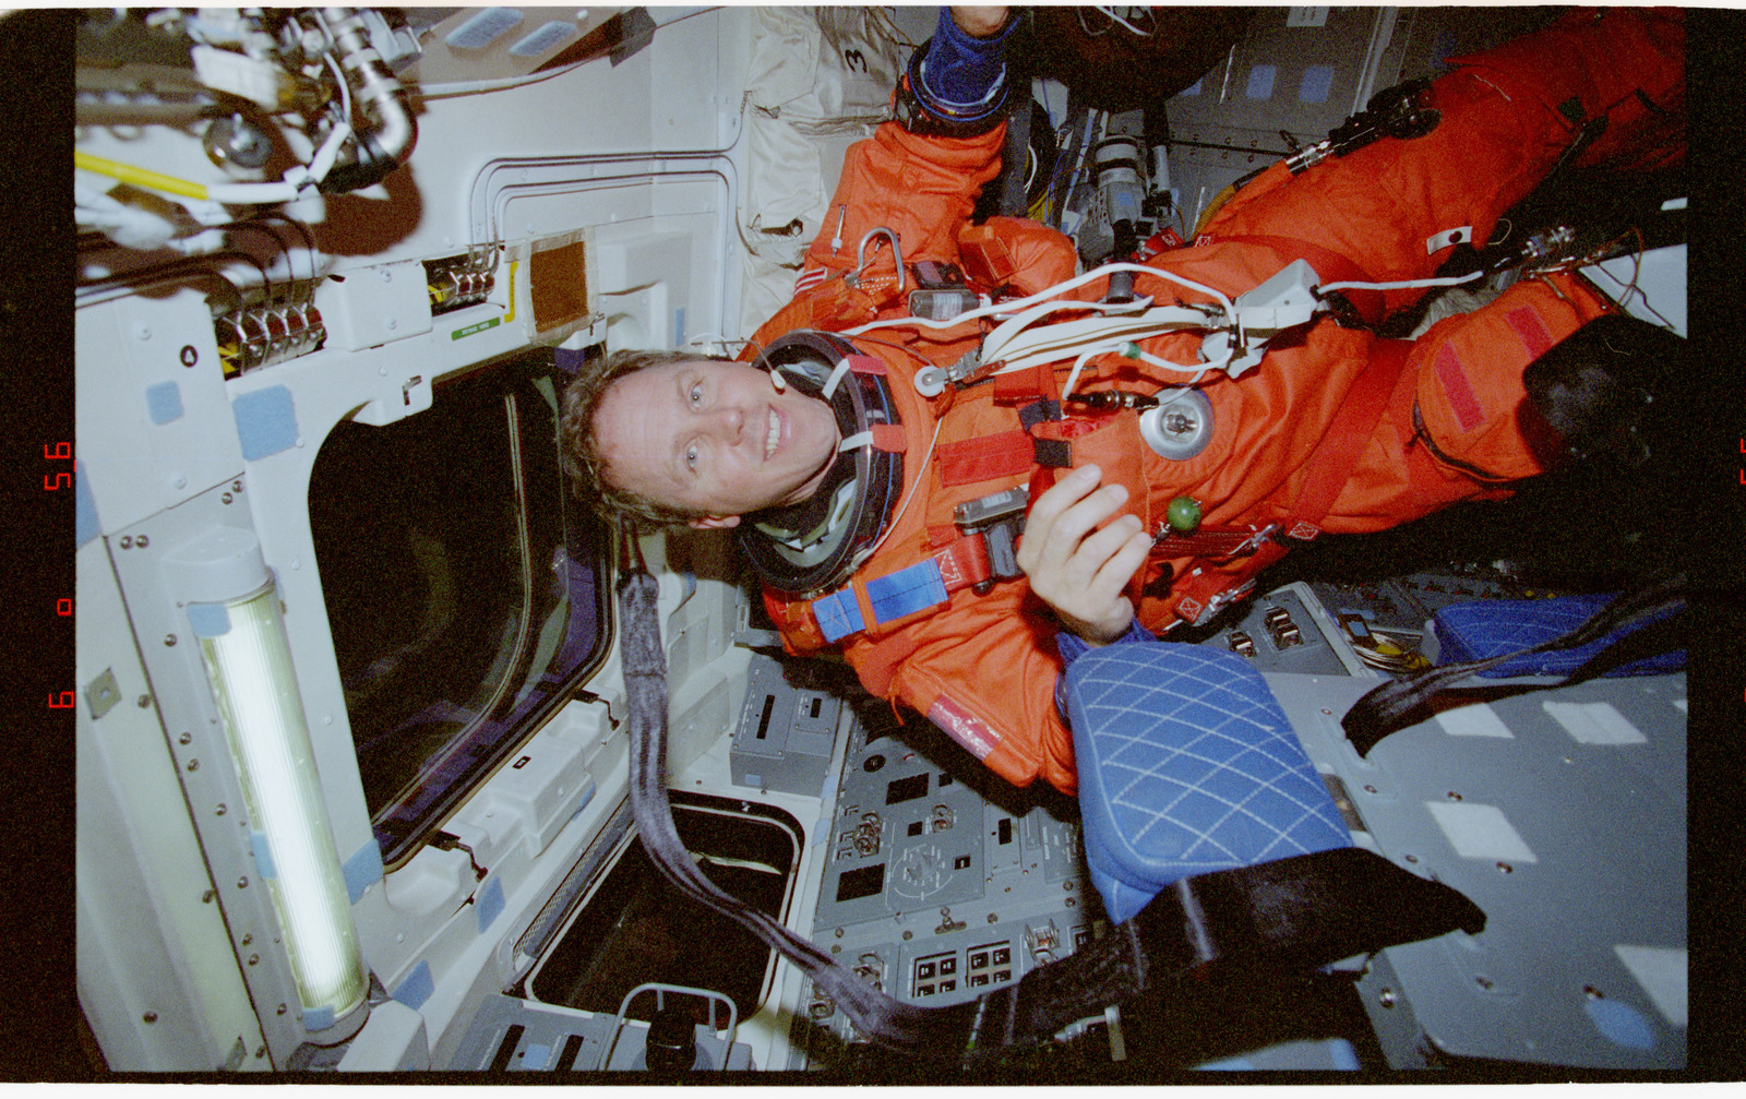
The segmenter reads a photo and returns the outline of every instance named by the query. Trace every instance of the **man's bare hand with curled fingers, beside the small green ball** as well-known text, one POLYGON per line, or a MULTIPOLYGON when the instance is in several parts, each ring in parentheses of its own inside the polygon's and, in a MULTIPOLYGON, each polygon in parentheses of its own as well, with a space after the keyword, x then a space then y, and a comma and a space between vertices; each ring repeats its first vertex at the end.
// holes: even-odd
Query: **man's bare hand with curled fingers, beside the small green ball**
POLYGON ((1145 524, 1131 512, 1096 529, 1128 501, 1119 484, 1098 487, 1102 475, 1095 465, 1079 467, 1037 496, 1018 545, 1030 591, 1091 645, 1128 631, 1133 603, 1123 589, 1152 549, 1145 524))

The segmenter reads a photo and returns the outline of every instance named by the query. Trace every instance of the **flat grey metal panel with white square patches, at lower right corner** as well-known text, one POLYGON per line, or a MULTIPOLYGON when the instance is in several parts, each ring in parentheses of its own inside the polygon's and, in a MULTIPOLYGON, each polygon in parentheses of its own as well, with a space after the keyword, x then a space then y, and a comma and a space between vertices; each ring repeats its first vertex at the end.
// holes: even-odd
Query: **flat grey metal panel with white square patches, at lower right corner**
POLYGON ((1486 912, 1481 935, 1386 950, 1393 991, 1437 1050, 1685 1064, 1683 674, 1495 699, 1509 737, 1460 736, 1446 711, 1383 739, 1367 760, 1339 729, 1365 683, 1268 680, 1310 758, 1343 779, 1367 840, 1486 912), (1549 704, 1605 704, 1643 737, 1573 736, 1549 704), (1645 957, 1653 963, 1633 970, 1645 957))

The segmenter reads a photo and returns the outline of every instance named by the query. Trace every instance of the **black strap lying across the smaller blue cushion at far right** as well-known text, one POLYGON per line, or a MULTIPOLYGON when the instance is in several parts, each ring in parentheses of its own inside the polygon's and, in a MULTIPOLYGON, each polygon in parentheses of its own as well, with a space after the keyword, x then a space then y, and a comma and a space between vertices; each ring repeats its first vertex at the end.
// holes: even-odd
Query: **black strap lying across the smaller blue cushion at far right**
MULTIPOLYGON (((1664 652, 1673 652, 1685 645, 1685 573, 1673 573, 1650 580, 1636 591, 1622 592, 1617 599, 1603 606, 1594 617, 1561 638, 1542 641, 1531 648, 1509 652, 1484 660, 1467 660, 1432 667, 1407 680, 1395 680, 1378 687, 1346 711, 1339 720, 1346 730, 1346 739, 1358 750, 1360 757, 1371 755, 1371 748, 1392 732, 1418 725, 1428 716, 1421 709, 1432 695, 1442 694, 1451 685, 1496 667, 1505 660, 1526 657, 1536 652, 1556 652, 1563 648, 1580 648, 1605 638, 1615 631, 1629 631, 1612 645, 1594 653, 1584 664, 1557 683, 1533 685, 1526 690, 1550 687, 1570 687, 1601 676, 1620 664, 1641 660, 1664 652), (1678 612, 1678 613, 1669 613, 1678 612)), ((1519 694, 1519 692, 1512 692, 1519 694)))

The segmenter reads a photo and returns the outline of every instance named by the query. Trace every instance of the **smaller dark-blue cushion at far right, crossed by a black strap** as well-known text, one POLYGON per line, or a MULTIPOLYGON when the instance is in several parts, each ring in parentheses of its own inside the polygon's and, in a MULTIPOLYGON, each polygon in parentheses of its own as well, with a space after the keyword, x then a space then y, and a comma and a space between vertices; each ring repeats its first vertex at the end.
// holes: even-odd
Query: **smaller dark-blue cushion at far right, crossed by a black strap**
MULTIPOLYGON (((1482 599, 1477 603, 1456 603, 1439 610, 1435 622, 1437 641, 1442 652, 1439 664, 1465 664, 1467 660, 1486 660, 1502 657, 1507 652, 1531 648, 1554 638, 1563 638, 1601 612, 1613 596, 1561 596, 1557 599, 1482 599)), ((1674 613, 1673 610, 1667 612, 1674 613)), ((1666 615, 1662 615, 1666 617, 1666 615)), ((1643 624, 1646 626, 1646 622, 1643 624)), ((1641 626, 1638 627, 1641 629, 1641 626)), ((1479 673, 1488 678, 1503 676, 1568 676, 1584 660, 1606 648, 1610 643, 1631 631, 1615 631, 1589 641, 1580 648, 1559 652, 1536 652, 1514 660, 1505 660, 1496 667, 1479 673)), ((1622 664, 1610 676, 1653 676, 1685 667, 1685 650, 1664 652, 1643 660, 1622 664)))

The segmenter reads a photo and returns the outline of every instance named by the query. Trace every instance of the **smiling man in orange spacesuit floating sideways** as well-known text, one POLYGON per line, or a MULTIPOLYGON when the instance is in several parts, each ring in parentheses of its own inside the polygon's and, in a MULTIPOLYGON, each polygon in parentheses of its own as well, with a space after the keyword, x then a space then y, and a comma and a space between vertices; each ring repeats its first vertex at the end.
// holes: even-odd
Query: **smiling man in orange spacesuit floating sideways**
POLYGON ((1678 162, 1683 26, 1676 12, 1571 10, 1453 58, 1407 93, 1413 136, 1301 173, 1275 164, 1194 246, 1133 271, 1135 294, 1210 318, 1208 302, 1304 260, 1346 288, 1339 321, 1318 313, 1222 370, 1219 348, 1203 355, 1205 325, 1083 335, 1103 274, 1037 318, 1039 339, 1065 346, 1053 362, 981 376, 997 321, 915 323, 915 280, 899 281, 890 243, 906 271, 950 264, 997 301, 1074 274, 1058 232, 969 222, 999 169, 1013 30, 1006 9, 943 14, 897 121, 849 152, 831 203, 842 222, 808 250, 807 290, 754 334, 747 362, 609 355, 566 390, 562 447, 608 510, 737 528, 789 652, 842 652, 870 692, 1007 781, 1070 793, 1053 692, 1086 646, 1205 622, 1316 533, 1503 498, 1633 414, 1610 405, 1608 423, 1584 425, 1561 409, 1561 437, 1528 397, 1529 363, 1599 363, 1606 341, 1585 325, 1619 320, 1568 269, 1416 339, 1374 327, 1425 294, 1458 241, 1491 239, 1556 166, 1678 162), (973 372, 950 381, 948 367, 973 372), (1144 421, 1147 402, 1170 414, 1144 421))

